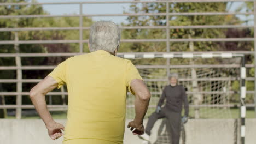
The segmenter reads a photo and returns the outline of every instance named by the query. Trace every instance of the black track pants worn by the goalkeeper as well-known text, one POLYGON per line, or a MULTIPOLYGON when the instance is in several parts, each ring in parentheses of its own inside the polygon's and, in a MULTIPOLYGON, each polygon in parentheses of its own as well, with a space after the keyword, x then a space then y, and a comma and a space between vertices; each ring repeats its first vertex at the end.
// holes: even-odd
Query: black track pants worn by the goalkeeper
POLYGON ((168 130, 171 138, 171 144, 179 144, 179 136, 181 130, 181 113, 168 110, 166 107, 162 108, 160 113, 152 113, 148 118, 148 123, 145 132, 150 135, 156 120, 159 118, 167 118, 168 124, 166 129, 168 130))

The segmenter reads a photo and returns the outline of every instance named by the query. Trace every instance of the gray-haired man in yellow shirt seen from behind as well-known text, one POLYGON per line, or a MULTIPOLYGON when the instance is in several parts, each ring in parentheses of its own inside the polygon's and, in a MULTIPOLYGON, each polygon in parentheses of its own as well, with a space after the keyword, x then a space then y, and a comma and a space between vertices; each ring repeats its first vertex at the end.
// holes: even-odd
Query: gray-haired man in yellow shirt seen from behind
POLYGON ((115 56, 119 45, 115 23, 95 22, 90 29, 90 53, 69 57, 31 89, 30 98, 51 139, 64 135, 63 144, 123 143, 127 91, 135 95, 136 112, 127 127, 134 135, 144 133, 150 92, 132 62, 115 56), (68 89, 65 128, 54 121, 45 102, 46 93, 64 84, 68 89))

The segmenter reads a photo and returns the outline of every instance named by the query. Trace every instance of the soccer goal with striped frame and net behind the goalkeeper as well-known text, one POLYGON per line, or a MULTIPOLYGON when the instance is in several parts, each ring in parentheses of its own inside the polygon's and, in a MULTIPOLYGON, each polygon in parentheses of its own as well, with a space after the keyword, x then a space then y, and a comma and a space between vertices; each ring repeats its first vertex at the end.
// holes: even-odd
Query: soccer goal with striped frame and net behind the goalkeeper
MULTIPOLYGON (((245 57, 236 53, 138 53, 122 54, 131 59, 151 94, 146 119, 156 108, 168 74, 179 74, 189 100, 189 121, 181 125, 180 143, 245 143, 245 57), (170 63, 166 65, 166 59, 170 63), (240 109, 235 109, 234 107, 240 109), (239 117, 236 113, 240 113, 239 117), (237 123, 237 119, 239 120, 237 123)), ((168 62, 168 61, 167 61, 168 62)), ((126 100, 126 119, 135 116, 134 97, 126 100)), ((165 119, 152 143, 170 143, 165 119)))

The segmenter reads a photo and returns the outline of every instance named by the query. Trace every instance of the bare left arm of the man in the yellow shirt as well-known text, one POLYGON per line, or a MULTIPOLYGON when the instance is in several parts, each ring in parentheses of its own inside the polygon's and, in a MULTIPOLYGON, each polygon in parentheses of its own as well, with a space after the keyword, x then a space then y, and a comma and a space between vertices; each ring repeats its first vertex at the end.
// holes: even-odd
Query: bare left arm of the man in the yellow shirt
POLYGON ((46 128, 48 129, 49 136, 55 140, 61 137, 63 134, 60 129, 64 129, 62 124, 56 123, 51 117, 50 112, 47 109, 45 95, 57 87, 57 82, 51 76, 46 76, 30 91, 31 101, 36 108, 39 116, 43 119, 46 128))

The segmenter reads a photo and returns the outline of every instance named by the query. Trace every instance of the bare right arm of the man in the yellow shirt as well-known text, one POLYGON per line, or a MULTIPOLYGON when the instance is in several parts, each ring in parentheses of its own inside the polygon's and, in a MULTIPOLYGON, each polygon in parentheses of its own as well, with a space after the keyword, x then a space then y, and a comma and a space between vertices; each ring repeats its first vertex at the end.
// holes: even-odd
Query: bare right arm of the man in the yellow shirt
POLYGON ((150 101, 150 92, 142 80, 133 79, 130 83, 131 90, 135 92, 135 119, 128 124, 131 127, 133 135, 142 135, 144 133, 143 119, 148 110, 150 101))

